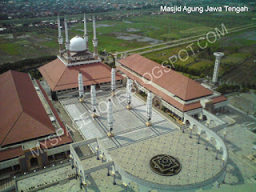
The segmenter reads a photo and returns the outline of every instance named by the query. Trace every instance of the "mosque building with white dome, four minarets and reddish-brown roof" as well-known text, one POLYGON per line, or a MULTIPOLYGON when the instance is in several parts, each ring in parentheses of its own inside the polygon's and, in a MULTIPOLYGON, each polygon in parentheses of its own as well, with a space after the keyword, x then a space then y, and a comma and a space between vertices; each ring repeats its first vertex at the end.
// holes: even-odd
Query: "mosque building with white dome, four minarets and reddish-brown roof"
MULTIPOLYGON (((98 39, 96 37, 96 24, 94 23, 94 52, 88 50, 88 34, 86 30, 86 18, 84 22, 84 37, 75 36, 69 40, 68 26, 65 19, 66 50, 63 50, 63 38, 58 18, 58 43, 60 54, 58 58, 39 68, 42 77, 50 87, 54 97, 58 93, 69 90, 78 90, 78 74, 82 73, 83 86, 90 90, 94 84, 96 88, 111 81, 110 67, 106 66, 98 58, 98 39)), ((122 76, 116 74, 116 81, 121 82, 122 76)))

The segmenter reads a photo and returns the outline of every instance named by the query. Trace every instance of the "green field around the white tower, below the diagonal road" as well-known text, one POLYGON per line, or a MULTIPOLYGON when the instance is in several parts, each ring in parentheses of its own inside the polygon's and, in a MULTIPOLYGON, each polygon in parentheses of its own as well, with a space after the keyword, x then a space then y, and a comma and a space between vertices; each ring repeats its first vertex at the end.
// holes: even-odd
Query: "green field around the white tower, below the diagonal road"
MULTIPOLYGON (((196 54, 190 54, 190 57, 185 62, 178 60, 175 64, 178 64, 178 66, 186 66, 190 69, 187 70, 188 73, 191 73, 191 70, 196 70, 198 71, 198 75, 203 74, 203 76, 211 77, 214 70, 214 52, 222 51, 225 54, 224 58, 221 60, 219 70, 219 76, 222 80, 238 83, 255 83, 255 36, 255 28, 242 30, 233 34, 226 34, 225 37, 219 39, 217 42, 209 44, 205 50, 199 49, 199 53, 197 53, 198 47, 193 46, 196 54), (233 40, 239 43, 232 43, 233 40), (236 72, 234 73, 233 71, 236 72), (230 73, 233 74, 233 76, 230 75, 230 73)), ((144 56, 161 63, 162 61, 168 61, 168 58, 174 54, 177 55, 179 50, 189 50, 186 46, 188 46, 188 44, 166 50, 154 51, 144 54, 144 56)), ((172 59, 172 61, 173 60, 174 59, 172 59)))

